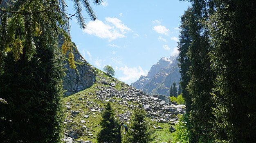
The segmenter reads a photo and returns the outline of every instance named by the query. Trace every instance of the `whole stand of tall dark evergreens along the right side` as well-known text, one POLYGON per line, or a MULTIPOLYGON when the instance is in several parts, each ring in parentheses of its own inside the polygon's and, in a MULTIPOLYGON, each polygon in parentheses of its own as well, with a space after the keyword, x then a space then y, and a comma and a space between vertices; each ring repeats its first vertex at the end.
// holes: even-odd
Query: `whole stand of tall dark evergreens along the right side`
POLYGON ((255 142, 256 2, 189 1, 179 61, 191 139, 255 142))

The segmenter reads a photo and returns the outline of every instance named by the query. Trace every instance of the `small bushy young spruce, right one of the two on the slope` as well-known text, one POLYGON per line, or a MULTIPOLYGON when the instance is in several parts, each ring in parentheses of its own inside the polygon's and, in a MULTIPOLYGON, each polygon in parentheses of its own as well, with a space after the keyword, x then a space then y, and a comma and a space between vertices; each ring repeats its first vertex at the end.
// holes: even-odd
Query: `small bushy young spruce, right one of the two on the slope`
POLYGON ((151 143, 155 139, 154 132, 153 125, 146 118, 146 112, 139 107, 132 113, 131 124, 124 143, 151 143))

